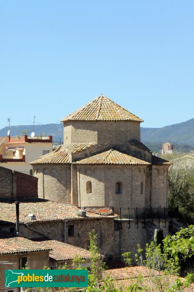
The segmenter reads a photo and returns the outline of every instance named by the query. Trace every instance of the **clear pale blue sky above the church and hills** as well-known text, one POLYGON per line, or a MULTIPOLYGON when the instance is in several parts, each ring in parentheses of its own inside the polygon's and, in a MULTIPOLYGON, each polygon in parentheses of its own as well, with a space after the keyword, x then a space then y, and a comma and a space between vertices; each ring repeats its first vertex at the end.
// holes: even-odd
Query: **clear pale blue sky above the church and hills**
POLYGON ((194 118, 194 1, 0 0, 0 128, 100 94, 142 127, 194 118))

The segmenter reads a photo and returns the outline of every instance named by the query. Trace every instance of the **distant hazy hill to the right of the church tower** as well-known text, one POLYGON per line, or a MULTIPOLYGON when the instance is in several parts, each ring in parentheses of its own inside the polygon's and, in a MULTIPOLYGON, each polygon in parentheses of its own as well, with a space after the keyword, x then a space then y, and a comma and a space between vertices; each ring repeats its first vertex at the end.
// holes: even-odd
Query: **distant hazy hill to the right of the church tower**
POLYGON ((143 142, 172 142, 194 146, 194 119, 163 128, 141 128, 143 142))

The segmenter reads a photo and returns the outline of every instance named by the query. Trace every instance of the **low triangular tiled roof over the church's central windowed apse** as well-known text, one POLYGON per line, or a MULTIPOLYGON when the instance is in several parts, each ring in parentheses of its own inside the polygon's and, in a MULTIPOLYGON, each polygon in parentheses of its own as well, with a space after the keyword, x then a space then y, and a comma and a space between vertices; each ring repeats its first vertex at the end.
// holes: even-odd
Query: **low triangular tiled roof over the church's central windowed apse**
POLYGON ((149 165, 150 163, 136 157, 121 153, 114 149, 90 156, 74 164, 128 164, 128 165, 149 165))

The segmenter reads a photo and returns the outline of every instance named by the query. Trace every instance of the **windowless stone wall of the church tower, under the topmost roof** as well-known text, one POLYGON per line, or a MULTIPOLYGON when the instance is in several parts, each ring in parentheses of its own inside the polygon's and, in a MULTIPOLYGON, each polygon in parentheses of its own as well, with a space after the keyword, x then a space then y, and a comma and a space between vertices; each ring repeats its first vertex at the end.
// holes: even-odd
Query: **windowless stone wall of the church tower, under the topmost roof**
POLYGON ((68 121, 64 123, 64 144, 97 142, 121 145, 140 141, 140 123, 131 121, 68 121))

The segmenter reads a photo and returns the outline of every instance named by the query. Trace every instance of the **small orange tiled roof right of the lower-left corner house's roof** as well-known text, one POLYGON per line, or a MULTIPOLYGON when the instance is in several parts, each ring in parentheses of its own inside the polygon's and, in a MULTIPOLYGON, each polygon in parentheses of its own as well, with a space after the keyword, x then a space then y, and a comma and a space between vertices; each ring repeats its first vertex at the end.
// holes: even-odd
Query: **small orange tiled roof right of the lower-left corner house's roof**
POLYGON ((41 241, 43 247, 50 248, 49 257, 56 261, 71 260, 76 255, 81 258, 88 259, 90 257, 90 252, 86 249, 64 243, 57 240, 46 240, 41 241))

